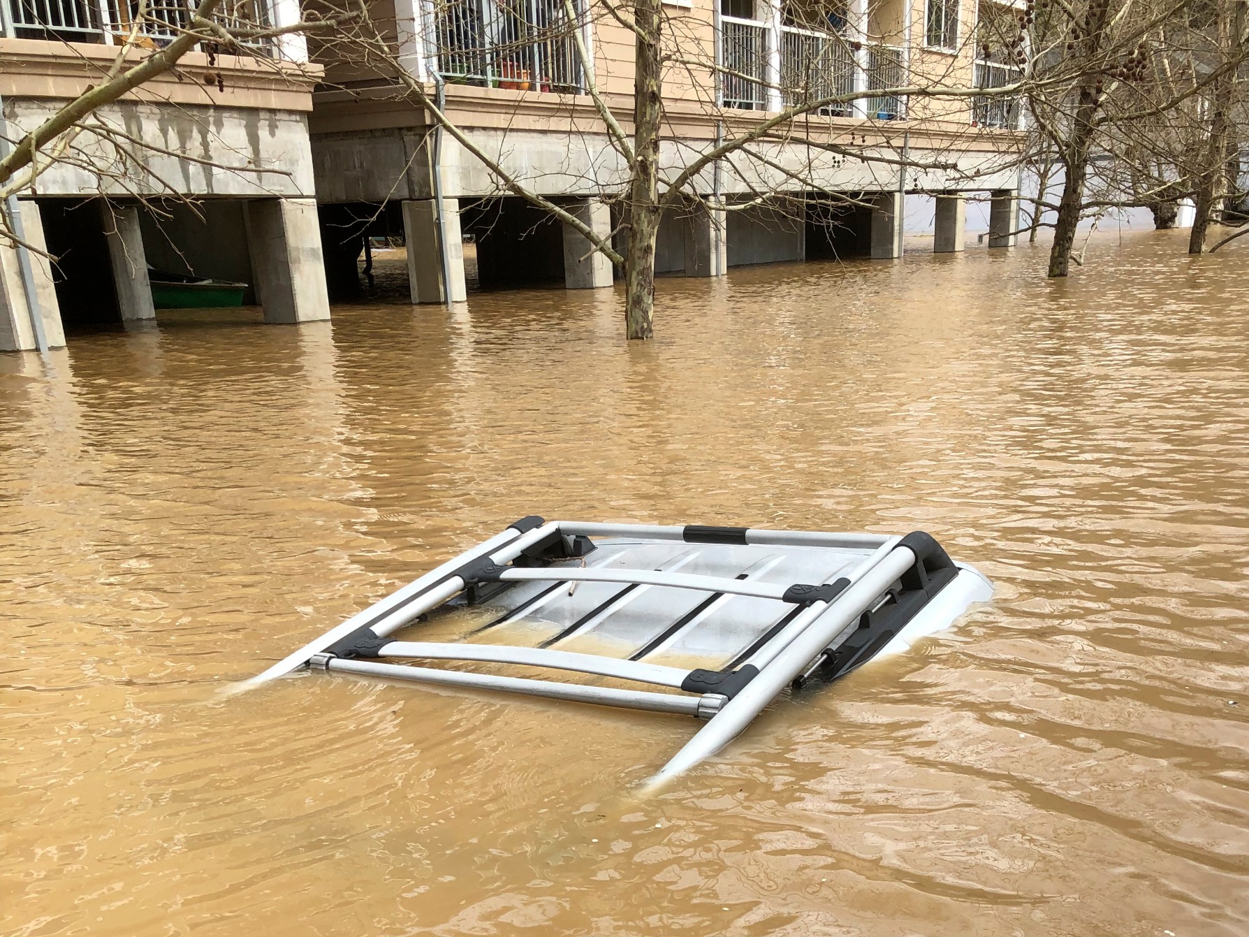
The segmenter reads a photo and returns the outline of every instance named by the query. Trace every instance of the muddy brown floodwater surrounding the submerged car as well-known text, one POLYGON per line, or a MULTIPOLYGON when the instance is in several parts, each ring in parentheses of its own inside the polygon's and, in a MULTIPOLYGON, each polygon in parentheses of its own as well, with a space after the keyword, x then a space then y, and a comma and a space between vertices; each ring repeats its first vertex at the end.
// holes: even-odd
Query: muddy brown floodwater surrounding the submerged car
POLYGON ((0 359, 0 933, 1249 932, 1249 254, 170 315, 0 359), (528 513, 934 533, 953 633, 676 716, 302 676, 528 513))

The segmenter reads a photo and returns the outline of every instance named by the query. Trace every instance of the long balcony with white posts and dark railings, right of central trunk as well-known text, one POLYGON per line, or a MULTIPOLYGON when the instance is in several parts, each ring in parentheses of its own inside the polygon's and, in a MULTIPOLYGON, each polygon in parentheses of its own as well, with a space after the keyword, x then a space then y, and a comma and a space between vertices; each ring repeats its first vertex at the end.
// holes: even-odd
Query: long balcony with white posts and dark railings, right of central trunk
MULTIPOLYGON (((781 26, 759 20, 719 17, 721 102, 739 110, 781 110, 856 91, 906 84, 906 51, 896 46, 854 45, 837 32, 781 26)), ((904 96, 879 95, 833 104, 816 111, 834 117, 902 120, 904 96)))

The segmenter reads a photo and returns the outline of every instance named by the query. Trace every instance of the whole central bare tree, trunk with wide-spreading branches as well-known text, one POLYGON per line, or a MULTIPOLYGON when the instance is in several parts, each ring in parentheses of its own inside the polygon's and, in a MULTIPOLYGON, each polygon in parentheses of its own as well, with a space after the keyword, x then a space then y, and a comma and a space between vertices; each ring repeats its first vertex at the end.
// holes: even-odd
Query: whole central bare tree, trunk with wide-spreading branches
MULTIPOLYGON (((332 0, 316 0, 310 9, 337 10, 332 0)), ((341 0, 340 0, 341 1, 341 0)), ((446 16, 455 22, 456 4, 435 6, 428 12, 435 21, 446 16)), ((957 177, 969 186, 975 171, 988 172, 1015 165, 1015 142, 999 126, 977 126, 969 120, 972 101, 985 107, 990 102, 1009 102, 1020 94, 1018 81, 995 87, 967 84, 954 66, 942 74, 908 74, 902 56, 887 59, 879 41, 861 27, 849 35, 829 29, 813 34, 812 50, 799 56, 789 74, 779 76, 756 69, 751 56, 739 61, 717 57, 707 36, 698 34, 661 0, 593 0, 575 7, 563 4, 565 15, 543 24, 540 32, 518 32, 512 41, 548 42, 562 36, 578 49, 582 70, 580 82, 598 119, 592 131, 607 140, 620 165, 620 179, 602 186, 602 195, 616 202, 624 227, 624 247, 617 249, 611 235, 603 236, 575 212, 537 191, 516 171, 507 169, 503 147, 487 147, 456 124, 445 105, 440 57, 473 55, 481 49, 456 45, 426 47, 430 81, 420 69, 405 60, 400 30, 383 19, 372 19, 362 9, 350 29, 320 42, 320 59, 331 66, 340 64, 352 76, 372 75, 388 84, 393 96, 422 109, 441 132, 452 137, 491 174, 500 195, 515 195, 555 216, 580 232, 592 250, 608 257, 624 271, 624 321, 629 339, 653 334, 654 261, 661 219, 664 212, 689 210, 702 205, 716 212, 742 210, 751 205, 776 204, 784 210, 784 191, 817 192, 829 200, 854 201, 822 181, 822 170, 853 161, 871 174, 873 167, 891 180, 892 190, 899 174, 911 172, 922 180, 927 174, 957 177), (610 24, 631 37, 633 67, 631 94, 607 94, 598 86, 598 75, 585 47, 586 24, 610 24), (876 57, 872 57, 876 56, 876 57), (884 67, 877 61, 881 59, 884 67), (857 81, 854 69, 872 71, 872 80, 857 81), (874 70, 874 71, 873 71, 874 70), (758 95, 758 110, 731 106, 726 85, 751 89, 758 95), (669 87, 676 87, 669 92, 669 87), (909 107, 909 110, 907 110, 909 107), (858 114, 866 120, 839 122, 838 116, 858 114), (696 142, 682 139, 673 124, 693 116, 716 127, 713 139, 696 142), (879 120, 874 117, 881 117, 879 120), (904 120, 898 120, 904 119, 904 120), (916 155, 906 141, 926 127, 939 129, 943 144, 916 155), (990 142, 984 142, 989 140, 990 142), (968 170, 958 154, 980 141, 997 154, 978 170, 968 170), (661 160, 668 146, 678 159, 661 160), (784 147, 791 147, 786 150, 784 147), (807 154, 801 164, 783 157, 793 147, 807 154), (708 172, 731 174, 746 192, 746 199, 729 204, 708 196, 699 185, 708 172)), ((709 25, 709 24, 706 24, 709 25)), ((453 30, 452 30, 453 31, 453 30)), ((426 25, 433 45, 445 32, 426 25)), ((505 40, 507 41, 507 40, 505 40)), ((506 60, 506 47, 488 51, 506 60)), ((331 79, 332 80, 332 79, 331 79)), ((366 82, 367 84, 367 82, 366 82)), ((347 84, 343 90, 351 91, 347 84)), ((376 82, 368 94, 378 94, 376 82)), ((572 111, 570 99, 568 107, 572 111)), ((1005 106, 1005 105, 1004 105, 1005 106)), ((570 136, 587 131, 570 117, 570 136)), ((882 187, 886 187, 882 185, 882 187)))

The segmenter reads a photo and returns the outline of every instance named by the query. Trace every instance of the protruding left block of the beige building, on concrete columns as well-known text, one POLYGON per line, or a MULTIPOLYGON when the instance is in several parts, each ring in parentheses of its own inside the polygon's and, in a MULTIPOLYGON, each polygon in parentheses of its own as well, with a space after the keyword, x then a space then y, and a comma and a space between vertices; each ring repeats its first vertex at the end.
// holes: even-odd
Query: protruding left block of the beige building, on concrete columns
MULTIPOLYGON (((0 0, 0 132, 20 139, 102 80, 127 29, 117 10, 0 0)), ((186 15, 165 12, 174 26, 186 15)), ((297 0, 254 12, 279 26, 299 16, 297 0)), ((126 64, 171 36, 145 26, 126 64)), ((189 52, 85 121, 62 159, 45 155, 16 199, 36 250, 0 247, 0 350, 34 349, 40 331, 55 347, 66 330, 151 320, 149 267, 246 284, 269 322, 328 319, 307 134, 320 69, 306 59, 297 35, 246 55, 189 52)))

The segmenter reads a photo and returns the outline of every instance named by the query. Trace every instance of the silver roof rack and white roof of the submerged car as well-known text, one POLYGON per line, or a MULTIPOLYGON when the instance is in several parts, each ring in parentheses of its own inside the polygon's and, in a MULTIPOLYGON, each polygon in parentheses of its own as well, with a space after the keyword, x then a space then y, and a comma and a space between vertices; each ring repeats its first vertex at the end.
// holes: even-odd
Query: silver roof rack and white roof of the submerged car
POLYGON ((889 537, 525 517, 247 683, 306 667, 707 720, 656 775, 663 780, 719 751, 787 686, 836 678, 903 650, 992 591, 922 531, 889 537), (453 642, 391 637, 442 606, 500 615, 453 642), (483 635, 488 642, 477 640, 483 635), (708 666, 692 667, 691 658, 708 666), (538 667, 664 691, 395 661, 538 667))

